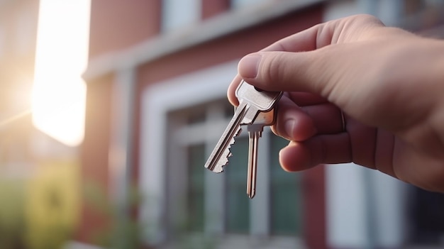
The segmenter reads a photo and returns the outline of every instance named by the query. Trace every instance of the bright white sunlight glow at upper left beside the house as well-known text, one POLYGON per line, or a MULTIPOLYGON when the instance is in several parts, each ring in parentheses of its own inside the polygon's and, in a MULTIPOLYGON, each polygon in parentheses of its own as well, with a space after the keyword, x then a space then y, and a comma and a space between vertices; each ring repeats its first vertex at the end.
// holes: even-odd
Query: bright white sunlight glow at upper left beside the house
POLYGON ((33 123, 70 146, 84 136, 91 0, 40 0, 33 123))

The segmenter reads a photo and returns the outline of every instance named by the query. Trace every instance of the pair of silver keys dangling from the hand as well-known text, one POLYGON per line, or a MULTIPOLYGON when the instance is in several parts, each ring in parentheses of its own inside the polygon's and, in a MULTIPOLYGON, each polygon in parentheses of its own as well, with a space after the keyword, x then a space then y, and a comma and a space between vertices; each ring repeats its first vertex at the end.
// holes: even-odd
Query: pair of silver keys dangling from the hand
POLYGON ((249 139, 247 195, 252 199, 256 194, 258 140, 262 136, 264 126, 271 126, 274 123, 276 119, 274 107, 281 98, 282 92, 262 91, 242 81, 235 94, 239 100, 239 106, 235 109, 233 118, 206 161, 205 167, 212 172, 223 172, 223 167, 228 164, 228 157, 231 157, 231 145, 235 143, 235 137, 242 131, 240 126, 246 125, 249 139))

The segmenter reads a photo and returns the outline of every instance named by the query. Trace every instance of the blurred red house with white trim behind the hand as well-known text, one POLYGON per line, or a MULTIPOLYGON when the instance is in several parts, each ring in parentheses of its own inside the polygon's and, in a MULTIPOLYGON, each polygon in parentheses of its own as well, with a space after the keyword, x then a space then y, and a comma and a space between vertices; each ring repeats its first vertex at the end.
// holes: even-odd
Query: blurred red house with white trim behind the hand
MULTIPOLYGON (((143 226, 147 248, 443 246, 443 219, 421 234, 427 214, 412 209, 421 205, 411 197, 426 194, 350 164, 283 172, 277 153, 286 142, 269 129, 260 139, 254 199, 245 194, 245 132, 223 174, 204 169, 233 115, 226 89, 240 57, 354 13, 443 37, 440 1, 91 4, 82 179, 100 182, 119 214, 143 226), (134 186, 143 195, 135 209, 128 201, 134 186)), ((78 248, 94 243, 91 235, 106 226, 107 218, 85 204, 78 248)))

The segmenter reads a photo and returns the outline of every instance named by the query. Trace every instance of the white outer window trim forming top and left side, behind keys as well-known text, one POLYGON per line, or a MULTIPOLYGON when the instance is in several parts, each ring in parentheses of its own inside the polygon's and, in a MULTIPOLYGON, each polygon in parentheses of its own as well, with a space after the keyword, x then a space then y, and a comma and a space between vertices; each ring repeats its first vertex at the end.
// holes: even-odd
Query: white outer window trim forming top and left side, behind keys
MULTIPOLYGON (((165 135, 166 115, 173 109, 194 106, 226 96, 237 72, 237 61, 157 82, 143 92, 140 131, 140 189, 146 197, 140 209, 148 243, 166 238, 165 227, 165 135)), ((218 229, 217 229, 218 230, 218 229)))

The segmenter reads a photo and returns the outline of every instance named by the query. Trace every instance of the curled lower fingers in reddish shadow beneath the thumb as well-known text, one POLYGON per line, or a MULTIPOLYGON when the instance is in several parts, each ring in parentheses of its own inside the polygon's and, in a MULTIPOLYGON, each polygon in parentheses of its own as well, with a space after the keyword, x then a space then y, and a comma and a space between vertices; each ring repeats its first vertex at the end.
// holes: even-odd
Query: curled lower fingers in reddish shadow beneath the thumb
POLYGON ((279 153, 284 170, 292 172, 321 163, 352 161, 352 139, 343 131, 338 107, 329 103, 295 106, 288 95, 284 96, 279 101, 277 123, 273 126, 274 133, 292 140, 279 153))

